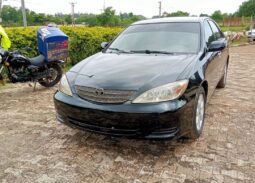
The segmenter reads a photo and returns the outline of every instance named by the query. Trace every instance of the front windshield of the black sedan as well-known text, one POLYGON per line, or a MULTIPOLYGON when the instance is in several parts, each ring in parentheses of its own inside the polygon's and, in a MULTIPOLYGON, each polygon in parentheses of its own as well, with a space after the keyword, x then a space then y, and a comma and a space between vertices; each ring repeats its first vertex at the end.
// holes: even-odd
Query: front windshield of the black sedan
POLYGON ((197 53, 199 48, 199 23, 157 23, 128 27, 106 52, 197 53))

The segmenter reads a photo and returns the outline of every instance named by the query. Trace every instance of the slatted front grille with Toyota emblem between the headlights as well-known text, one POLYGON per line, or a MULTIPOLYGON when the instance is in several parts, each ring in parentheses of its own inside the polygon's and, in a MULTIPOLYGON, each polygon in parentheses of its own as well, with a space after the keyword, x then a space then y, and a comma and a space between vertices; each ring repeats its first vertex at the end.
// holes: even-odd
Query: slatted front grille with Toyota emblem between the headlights
POLYGON ((109 90, 85 86, 76 86, 76 92, 82 99, 107 104, 124 103, 135 93, 135 91, 128 90, 109 90))

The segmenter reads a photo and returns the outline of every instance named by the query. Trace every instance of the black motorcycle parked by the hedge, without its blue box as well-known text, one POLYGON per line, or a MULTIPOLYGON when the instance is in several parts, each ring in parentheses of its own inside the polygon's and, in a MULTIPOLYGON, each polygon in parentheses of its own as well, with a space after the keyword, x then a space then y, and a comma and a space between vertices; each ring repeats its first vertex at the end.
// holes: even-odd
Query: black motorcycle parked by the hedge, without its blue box
MULTIPOLYGON (((30 51, 31 48, 26 48, 30 51)), ((44 87, 55 86, 62 77, 62 60, 47 62, 43 55, 28 58, 19 51, 9 52, 0 49, 0 80, 3 79, 2 71, 5 67, 7 75, 12 83, 34 82, 34 88, 38 82, 44 87)))

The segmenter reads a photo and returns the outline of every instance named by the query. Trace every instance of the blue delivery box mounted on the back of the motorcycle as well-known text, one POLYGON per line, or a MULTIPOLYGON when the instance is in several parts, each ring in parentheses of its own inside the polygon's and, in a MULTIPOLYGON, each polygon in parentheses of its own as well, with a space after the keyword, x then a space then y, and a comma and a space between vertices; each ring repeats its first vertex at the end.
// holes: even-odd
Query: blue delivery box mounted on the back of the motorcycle
POLYGON ((68 36, 56 27, 43 27, 37 32, 40 54, 46 61, 63 60, 68 57, 68 36))

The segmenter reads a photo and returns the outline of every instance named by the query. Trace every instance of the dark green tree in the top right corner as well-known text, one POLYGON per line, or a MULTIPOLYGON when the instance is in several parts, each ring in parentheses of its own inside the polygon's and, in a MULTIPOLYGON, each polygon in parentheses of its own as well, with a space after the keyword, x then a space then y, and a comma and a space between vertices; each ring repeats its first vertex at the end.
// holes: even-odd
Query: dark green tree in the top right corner
POLYGON ((242 3, 236 12, 237 16, 255 16, 255 0, 248 0, 242 3))

